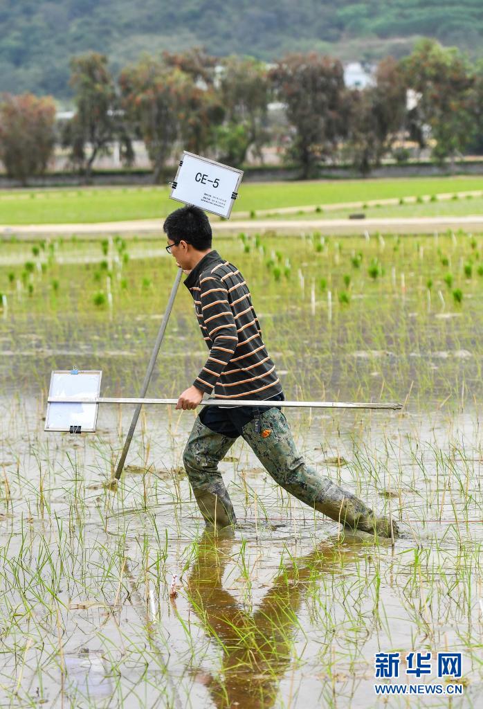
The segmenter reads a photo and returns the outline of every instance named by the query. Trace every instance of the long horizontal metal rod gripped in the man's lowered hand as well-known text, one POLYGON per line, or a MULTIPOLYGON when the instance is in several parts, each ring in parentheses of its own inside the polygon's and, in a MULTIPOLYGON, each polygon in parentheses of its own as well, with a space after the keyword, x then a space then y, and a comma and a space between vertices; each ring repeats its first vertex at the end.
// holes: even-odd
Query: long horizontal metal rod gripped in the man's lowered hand
MULTIPOLYGON (((81 399, 76 398, 60 398, 52 396, 47 398, 47 403, 130 403, 137 404, 139 408, 143 404, 165 404, 174 406, 178 403, 178 399, 159 399, 159 398, 116 398, 110 396, 101 396, 99 398, 81 399)), ((392 411, 400 411, 402 403, 377 403, 369 401, 367 403, 346 402, 346 401, 278 401, 266 400, 257 401, 252 399, 202 399, 198 406, 293 406, 297 408, 373 408, 373 409, 390 409, 392 411)), ((137 411, 137 409, 136 409, 137 411)), ((139 413, 137 413, 139 415, 139 413)), ((116 473, 117 476, 117 473, 116 473)))

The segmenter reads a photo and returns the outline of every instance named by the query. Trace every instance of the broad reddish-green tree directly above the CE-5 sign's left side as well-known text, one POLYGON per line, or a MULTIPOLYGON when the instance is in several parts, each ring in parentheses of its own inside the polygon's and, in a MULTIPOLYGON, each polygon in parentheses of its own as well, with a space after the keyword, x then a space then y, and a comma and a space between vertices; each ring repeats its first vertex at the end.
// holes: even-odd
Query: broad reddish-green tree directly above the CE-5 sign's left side
POLYGON ((203 152, 224 116, 215 90, 178 67, 145 57, 120 74, 123 108, 144 140, 159 182, 176 143, 203 152))

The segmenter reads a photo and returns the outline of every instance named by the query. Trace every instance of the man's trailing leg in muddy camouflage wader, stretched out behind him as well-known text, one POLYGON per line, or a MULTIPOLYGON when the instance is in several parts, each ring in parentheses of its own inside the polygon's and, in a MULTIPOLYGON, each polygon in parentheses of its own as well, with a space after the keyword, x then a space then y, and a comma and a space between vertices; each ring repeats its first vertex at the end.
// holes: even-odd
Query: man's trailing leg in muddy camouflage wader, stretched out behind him
POLYGON ((297 452, 285 415, 269 408, 247 423, 242 433, 261 464, 273 479, 296 498, 322 514, 353 530, 363 530, 381 537, 397 536, 397 525, 378 517, 353 493, 319 475, 297 452), (258 430, 259 429, 259 430, 258 430))

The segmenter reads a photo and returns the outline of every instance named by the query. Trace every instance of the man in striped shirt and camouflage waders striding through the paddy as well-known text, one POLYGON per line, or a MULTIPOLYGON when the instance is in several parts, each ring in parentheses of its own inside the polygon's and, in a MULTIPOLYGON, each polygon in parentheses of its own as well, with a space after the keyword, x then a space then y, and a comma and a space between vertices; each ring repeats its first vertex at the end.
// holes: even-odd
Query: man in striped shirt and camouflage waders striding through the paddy
MULTIPOLYGON (((198 207, 172 212, 164 222, 166 250, 189 272, 184 284, 195 301, 210 356, 176 408, 194 409, 203 395, 217 399, 283 401, 282 386, 268 355, 242 274, 211 248, 208 217, 198 207)), ((193 425, 183 463, 207 523, 237 522, 218 463, 242 436, 273 479, 309 507, 351 529, 391 537, 391 523, 300 456, 280 407, 205 406, 193 425)), ((392 522, 392 533, 397 535, 392 522)))

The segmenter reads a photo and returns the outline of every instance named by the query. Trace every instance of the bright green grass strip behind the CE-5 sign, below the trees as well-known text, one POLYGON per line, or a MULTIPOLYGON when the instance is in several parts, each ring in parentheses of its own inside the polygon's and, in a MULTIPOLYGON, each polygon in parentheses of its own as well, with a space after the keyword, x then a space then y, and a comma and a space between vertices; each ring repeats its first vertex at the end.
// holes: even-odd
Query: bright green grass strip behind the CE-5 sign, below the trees
MULTIPOLYGON (((483 189, 483 177, 426 177, 242 184, 237 211, 324 205, 483 189)), ((89 223, 162 218, 179 203, 167 186, 0 192, 0 224, 89 223)), ((468 201, 468 208, 471 208, 468 201)))

